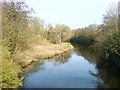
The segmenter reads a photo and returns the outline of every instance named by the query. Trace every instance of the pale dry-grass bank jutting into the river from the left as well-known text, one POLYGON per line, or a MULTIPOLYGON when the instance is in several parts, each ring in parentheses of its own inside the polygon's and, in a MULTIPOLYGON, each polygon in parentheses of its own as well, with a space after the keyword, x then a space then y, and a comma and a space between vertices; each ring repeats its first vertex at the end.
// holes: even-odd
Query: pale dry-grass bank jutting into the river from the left
POLYGON ((22 68, 27 67, 34 61, 52 58, 61 53, 72 50, 74 47, 70 43, 36 45, 22 53, 17 53, 15 60, 22 68))

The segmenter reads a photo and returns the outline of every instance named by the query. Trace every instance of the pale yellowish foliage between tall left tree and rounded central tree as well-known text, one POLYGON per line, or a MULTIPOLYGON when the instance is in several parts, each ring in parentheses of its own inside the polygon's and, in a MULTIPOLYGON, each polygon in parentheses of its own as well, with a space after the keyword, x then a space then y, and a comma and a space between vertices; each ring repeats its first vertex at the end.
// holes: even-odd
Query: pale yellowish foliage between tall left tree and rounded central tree
POLYGON ((38 17, 32 17, 27 32, 30 44, 47 44, 47 30, 44 28, 44 21, 38 17))

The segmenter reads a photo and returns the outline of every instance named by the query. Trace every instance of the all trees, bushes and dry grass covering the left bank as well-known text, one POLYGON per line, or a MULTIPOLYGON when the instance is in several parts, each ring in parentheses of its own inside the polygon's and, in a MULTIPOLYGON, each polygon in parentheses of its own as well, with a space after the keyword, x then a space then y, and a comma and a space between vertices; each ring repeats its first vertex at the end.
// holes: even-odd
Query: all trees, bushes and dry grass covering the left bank
MULTIPOLYGON (((34 61, 51 58, 73 49, 68 42, 71 29, 66 25, 45 26, 30 17, 25 2, 2 2, 2 88, 18 88, 23 68, 34 61)), ((1 62, 0 62, 1 63, 1 62)))

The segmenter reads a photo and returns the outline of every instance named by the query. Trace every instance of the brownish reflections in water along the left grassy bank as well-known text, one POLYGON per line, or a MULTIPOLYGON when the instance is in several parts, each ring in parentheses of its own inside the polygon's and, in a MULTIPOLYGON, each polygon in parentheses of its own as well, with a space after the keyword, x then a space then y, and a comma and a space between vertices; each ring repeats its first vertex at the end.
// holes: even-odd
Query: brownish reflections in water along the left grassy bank
MULTIPOLYGON (((58 56, 55 56, 52 59, 48 59, 48 61, 55 61, 55 66, 60 65, 60 64, 64 64, 66 62, 68 62, 69 58, 71 57, 71 52, 72 51, 68 51, 67 53, 62 53, 58 56)), ((39 62, 34 62, 32 63, 30 66, 28 66, 25 70, 24 70, 24 77, 27 77, 29 74, 38 72, 38 71, 43 71, 45 70, 45 66, 44 66, 45 60, 41 59, 39 60, 39 62)))

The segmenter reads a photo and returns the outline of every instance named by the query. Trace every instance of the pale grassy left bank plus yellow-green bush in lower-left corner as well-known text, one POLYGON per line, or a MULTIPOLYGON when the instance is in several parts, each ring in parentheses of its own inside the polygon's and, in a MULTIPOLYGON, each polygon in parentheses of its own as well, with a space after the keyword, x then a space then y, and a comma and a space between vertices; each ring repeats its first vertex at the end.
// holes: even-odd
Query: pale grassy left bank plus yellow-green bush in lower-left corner
POLYGON ((70 43, 34 45, 25 51, 16 52, 14 58, 9 58, 6 47, 2 48, 2 88, 18 88, 22 85, 23 78, 19 77, 22 69, 34 61, 52 58, 61 53, 70 51, 70 43))

